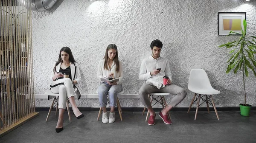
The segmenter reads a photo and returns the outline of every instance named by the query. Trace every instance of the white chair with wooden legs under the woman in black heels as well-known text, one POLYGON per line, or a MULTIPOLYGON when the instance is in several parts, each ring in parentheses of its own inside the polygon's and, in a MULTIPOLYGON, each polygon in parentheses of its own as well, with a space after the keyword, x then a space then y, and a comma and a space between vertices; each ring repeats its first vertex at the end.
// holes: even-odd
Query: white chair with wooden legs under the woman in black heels
MULTIPOLYGON (((52 111, 52 108, 53 108, 53 107, 56 107, 55 115, 57 115, 57 111, 58 111, 58 96, 59 96, 59 94, 57 94, 57 93, 52 93, 51 90, 48 90, 48 91, 45 92, 44 94, 50 95, 50 96, 54 96, 54 98, 53 98, 53 100, 52 100, 51 107, 50 107, 50 109, 49 109, 49 112, 48 112, 48 115, 47 115, 47 118, 46 118, 46 121, 45 121, 45 122, 47 122, 47 121, 48 121, 48 118, 49 118, 49 116, 50 116, 50 114, 51 114, 51 111, 52 111)), ((70 109, 69 109, 69 105, 68 105, 69 103, 70 103, 70 102, 69 102, 69 99, 67 98, 67 103, 66 103, 66 106, 67 106, 67 113, 68 113, 69 121, 71 122, 70 109)))

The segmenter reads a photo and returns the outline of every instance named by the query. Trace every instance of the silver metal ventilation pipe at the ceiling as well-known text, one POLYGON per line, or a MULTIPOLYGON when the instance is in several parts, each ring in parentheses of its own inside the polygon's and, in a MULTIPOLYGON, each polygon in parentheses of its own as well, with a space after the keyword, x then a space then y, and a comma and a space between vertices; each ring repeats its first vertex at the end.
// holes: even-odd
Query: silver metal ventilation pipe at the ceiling
MULTIPOLYGON (((28 7, 29 3, 27 0, 18 0, 23 6, 28 7)), ((32 11, 45 11, 52 8, 57 0, 31 0, 31 10, 32 11)))

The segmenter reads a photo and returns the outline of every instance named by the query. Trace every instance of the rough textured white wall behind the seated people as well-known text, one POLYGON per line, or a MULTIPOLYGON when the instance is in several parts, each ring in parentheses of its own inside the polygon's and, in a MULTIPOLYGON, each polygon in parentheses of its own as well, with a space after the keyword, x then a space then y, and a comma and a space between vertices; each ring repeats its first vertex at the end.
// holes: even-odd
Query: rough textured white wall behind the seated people
MULTIPOLYGON (((81 93, 96 94, 98 61, 108 44, 119 49, 124 66, 125 94, 137 94, 140 63, 151 54, 154 39, 163 42, 161 56, 169 59, 173 82, 188 91, 178 107, 188 107, 193 93, 187 89, 192 68, 206 70, 217 107, 243 102, 242 75, 226 74, 229 50, 218 48, 237 36, 218 36, 218 12, 247 12, 248 34, 256 34, 256 2, 234 0, 59 0, 52 9, 32 12, 35 94, 49 89, 47 80, 63 46, 73 51, 84 80, 81 93)), ((256 105, 255 77, 246 79, 248 104, 256 105)), ((128 95, 127 95, 128 96, 128 95)), ((84 96, 85 97, 85 96, 84 96)), ((167 98, 167 102, 171 98, 167 98)), ((98 99, 80 99, 80 107, 99 107, 98 99)), ((143 107, 139 99, 121 99, 123 107, 143 107)), ((36 99, 36 106, 49 106, 36 99)))

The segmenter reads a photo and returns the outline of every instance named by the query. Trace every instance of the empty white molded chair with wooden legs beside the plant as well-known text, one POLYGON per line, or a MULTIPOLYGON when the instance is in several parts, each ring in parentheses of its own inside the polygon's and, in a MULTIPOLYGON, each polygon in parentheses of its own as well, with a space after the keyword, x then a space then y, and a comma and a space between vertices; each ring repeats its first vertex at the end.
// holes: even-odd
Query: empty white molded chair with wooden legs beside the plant
MULTIPOLYGON (((196 117, 198 114, 198 107, 201 104, 203 104, 204 102, 206 102, 206 104, 207 104, 208 113, 209 113, 209 104, 212 105, 212 107, 215 110, 216 116, 219 120, 218 112, 215 107, 212 95, 219 94, 221 92, 212 88, 212 85, 209 81, 207 73, 203 69, 192 69, 190 71, 188 88, 190 91, 195 93, 195 95, 191 101, 191 104, 189 106, 189 110, 191 109, 192 104, 194 102, 197 102, 197 107, 196 107, 196 112, 195 112, 195 120, 196 120, 196 117), (207 95, 209 95, 209 97, 207 95), (205 96, 205 98, 204 98, 204 96, 205 96), (200 99, 203 100, 203 102, 201 104, 200 104, 200 99), (210 99, 212 101, 210 101, 210 99)), ((188 110, 188 113, 189 113, 189 110, 188 110)))

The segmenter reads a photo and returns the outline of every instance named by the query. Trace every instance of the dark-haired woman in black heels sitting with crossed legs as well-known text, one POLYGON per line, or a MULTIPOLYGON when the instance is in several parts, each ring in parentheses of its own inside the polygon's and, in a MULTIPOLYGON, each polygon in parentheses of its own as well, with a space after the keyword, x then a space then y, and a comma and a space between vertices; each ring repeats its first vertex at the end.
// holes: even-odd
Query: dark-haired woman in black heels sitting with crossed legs
POLYGON ((52 93, 58 93, 58 123, 55 128, 56 132, 63 130, 63 115, 66 109, 67 98, 69 98, 72 110, 77 119, 84 117, 76 106, 75 96, 80 98, 79 83, 81 82, 81 73, 79 67, 68 47, 60 50, 58 61, 53 68, 53 76, 50 77, 52 84, 50 85, 52 93), (64 78, 64 74, 69 75, 64 78))

